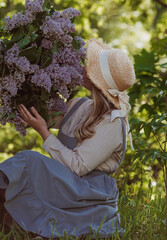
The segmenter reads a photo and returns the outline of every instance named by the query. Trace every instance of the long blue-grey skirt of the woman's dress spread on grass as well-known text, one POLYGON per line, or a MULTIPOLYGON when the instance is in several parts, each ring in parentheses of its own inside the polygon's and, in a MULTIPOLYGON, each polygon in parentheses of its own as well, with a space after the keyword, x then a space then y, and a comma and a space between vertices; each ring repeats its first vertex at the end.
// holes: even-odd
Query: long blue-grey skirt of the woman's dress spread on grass
POLYGON ((43 237, 106 237, 119 229, 115 179, 94 170, 78 177, 60 162, 22 151, 0 163, 5 208, 24 230, 43 237))

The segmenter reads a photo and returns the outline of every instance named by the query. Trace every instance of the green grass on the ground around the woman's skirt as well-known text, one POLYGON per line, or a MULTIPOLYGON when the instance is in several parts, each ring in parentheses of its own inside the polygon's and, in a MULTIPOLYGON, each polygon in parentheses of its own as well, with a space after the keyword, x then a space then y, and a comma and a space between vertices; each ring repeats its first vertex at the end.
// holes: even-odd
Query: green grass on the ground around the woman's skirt
MULTIPOLYGON (((139 191, 137 194, 124 194, 119 197, 119 213, 121 215, 121 227, 125 229, 122 236, 114 233, 106 240, 165 240, 166 239, 166 203, 160 193, 152 195, 139 191)), ((3 233, 1 228, 0 240, 44 240, 28 232, 23 232, 17 226, 13 226, 8 234, 3 233)), ((50 240, 53 238, 50 238, 50 240)), ((60 237, 60 240, 91 240, 90 235, 82 238, 60 237)), ((95 239, 100 239, 98 234, 95 239)))

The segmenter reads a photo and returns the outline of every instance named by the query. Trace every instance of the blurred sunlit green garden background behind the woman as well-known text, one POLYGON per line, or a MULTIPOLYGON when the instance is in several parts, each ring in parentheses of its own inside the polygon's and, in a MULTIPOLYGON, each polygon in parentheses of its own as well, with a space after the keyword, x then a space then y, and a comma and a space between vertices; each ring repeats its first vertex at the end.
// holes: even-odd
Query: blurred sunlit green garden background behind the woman
MULTIPOLYGON (((129 121, 135 152, 128 144, 126 157, 113 174, 126 233, 113 239, 167 239, 167 1, 49 2, 60 11, 67 7, 80 10, 75 24, 85 41, 101 38, 126 51, 134 63, 136 83, 129 90, 129 121)), ((0 0, 0 26, 5 16, 22 9, 24 0, 0 0)), ((78 90, 76 96, 90 96, 88 90, 78 90)), ((52 132, 57 134, 57 130, 52 132)), ((41 145, 41 137, 32 129, 23 137, 11 125, 0 126, 0 161, 25 149, 47 155, 41 145)))

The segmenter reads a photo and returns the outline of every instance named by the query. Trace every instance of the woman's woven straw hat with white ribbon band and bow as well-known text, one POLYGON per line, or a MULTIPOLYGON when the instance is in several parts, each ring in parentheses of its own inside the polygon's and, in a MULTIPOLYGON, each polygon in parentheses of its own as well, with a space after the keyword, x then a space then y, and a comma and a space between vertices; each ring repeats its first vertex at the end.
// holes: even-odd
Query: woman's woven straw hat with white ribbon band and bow
POLYGON ((126 107, 130 110, 129 97, 124 90, 134 84, 135 72, 124 51, 90 39, 87 42, 86 72, 91 82, 117 109, 126 107))

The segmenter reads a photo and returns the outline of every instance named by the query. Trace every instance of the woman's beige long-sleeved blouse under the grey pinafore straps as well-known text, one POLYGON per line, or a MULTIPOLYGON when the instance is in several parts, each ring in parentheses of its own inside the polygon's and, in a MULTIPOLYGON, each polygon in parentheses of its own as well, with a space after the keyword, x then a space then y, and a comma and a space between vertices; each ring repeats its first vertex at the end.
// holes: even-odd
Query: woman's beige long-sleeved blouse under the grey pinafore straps
MULTIPOLYGON (((70 100, 68 111, 79 99, 70 100)), ((84 102, 63 125, 63 133, 74 137, 74 129, 87 118, 92 109, 92 99, 84 102)), ((95 135, 77 144, 73 150, 64 146, 53 134, 45 140, 42 147, 53 159, 61 162, 81 177, 93 169, 115 172, 119 167, 122 145, 121 120, 116 118, 111 122, 109 114, 96 125, 95 135)))

